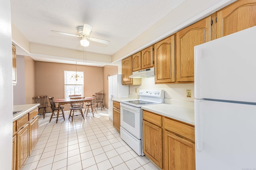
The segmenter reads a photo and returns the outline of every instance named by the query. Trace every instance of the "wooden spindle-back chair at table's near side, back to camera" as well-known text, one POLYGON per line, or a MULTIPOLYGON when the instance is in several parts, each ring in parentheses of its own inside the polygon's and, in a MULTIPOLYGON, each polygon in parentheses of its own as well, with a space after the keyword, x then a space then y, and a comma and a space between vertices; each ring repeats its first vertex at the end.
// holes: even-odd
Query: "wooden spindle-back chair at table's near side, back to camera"
POLYGON ((68 119, 72 117, 72 122, 73 122, 74 116, 82 115, 82 117, 84 118, 84 114, 82 111, 82 109, 84 108, 84 100, 85 100, 85 97, 70 98, 71 107, 70 107, 70 114, 68 119), (74 115, 75 110, 79 110, 81 114, 74 115), (72 111, 73 111, 73 114, 71 115, 72 111))

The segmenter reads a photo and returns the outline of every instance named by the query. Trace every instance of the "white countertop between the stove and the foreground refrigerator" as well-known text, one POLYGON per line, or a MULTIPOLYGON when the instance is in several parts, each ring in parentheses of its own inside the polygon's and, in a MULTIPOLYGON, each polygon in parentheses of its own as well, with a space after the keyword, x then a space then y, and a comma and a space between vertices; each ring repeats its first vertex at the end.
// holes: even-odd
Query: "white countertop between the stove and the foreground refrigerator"
POLYGON ((142 106, 141 108, 178 121, 195 125, 194 108, 191 107, 178 106, 174 104, 154 104, 142 106))

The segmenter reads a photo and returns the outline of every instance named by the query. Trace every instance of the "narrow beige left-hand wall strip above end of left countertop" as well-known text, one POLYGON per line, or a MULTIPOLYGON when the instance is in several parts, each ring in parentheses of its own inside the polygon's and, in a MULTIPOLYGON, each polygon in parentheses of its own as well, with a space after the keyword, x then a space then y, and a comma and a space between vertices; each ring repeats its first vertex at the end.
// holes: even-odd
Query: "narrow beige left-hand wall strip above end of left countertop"
POLYGON ((24 56, 24 59, 26 104, 33 104, 36 103, 36 62, 28 56, 24 56))

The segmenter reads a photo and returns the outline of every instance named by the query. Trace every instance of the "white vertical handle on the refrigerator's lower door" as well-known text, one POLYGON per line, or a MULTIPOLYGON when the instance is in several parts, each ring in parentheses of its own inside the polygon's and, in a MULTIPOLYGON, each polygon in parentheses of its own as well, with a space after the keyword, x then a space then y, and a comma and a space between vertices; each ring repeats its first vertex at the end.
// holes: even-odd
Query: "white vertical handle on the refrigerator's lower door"
POLYGON ((203 100, 195 100, 195 138, 196 138, 196 149, 199 151, 203 150, 203 137, 202 137, 202 119, 200 102, 203 100))

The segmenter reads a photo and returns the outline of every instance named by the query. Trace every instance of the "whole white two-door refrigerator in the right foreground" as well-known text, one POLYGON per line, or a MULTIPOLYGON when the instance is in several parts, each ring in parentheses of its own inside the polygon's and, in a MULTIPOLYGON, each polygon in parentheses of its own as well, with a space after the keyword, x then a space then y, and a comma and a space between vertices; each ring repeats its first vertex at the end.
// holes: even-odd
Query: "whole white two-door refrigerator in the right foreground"
POLYGON ((255 170, 256 27, 194 49, 196 170, 255 170))

